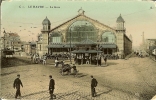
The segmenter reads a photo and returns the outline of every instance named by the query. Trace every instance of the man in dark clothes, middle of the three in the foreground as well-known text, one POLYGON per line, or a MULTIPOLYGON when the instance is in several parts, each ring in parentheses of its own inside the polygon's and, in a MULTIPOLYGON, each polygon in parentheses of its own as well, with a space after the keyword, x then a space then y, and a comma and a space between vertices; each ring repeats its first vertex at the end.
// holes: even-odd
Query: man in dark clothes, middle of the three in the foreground
POLYGON ((56 95, 54 95, 54 89, 55 89, 55 80, 52 79, 52 75, 49 75, 50 82, 49 82, 49 94, 50 94, 50 99, 56 98, 56 95))

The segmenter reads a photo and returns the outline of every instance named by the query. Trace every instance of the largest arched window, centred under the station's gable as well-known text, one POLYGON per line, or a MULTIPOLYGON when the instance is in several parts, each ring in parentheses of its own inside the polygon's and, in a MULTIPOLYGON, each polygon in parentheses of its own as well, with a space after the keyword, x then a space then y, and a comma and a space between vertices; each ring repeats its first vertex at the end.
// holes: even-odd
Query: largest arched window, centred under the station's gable
POLYGON ((88 21, 76 21, 67 30, 67 42, 81 42, 85 39, 97 41, 97 30, 88 21), (70 37, 71 36, 71 37, 70 37))

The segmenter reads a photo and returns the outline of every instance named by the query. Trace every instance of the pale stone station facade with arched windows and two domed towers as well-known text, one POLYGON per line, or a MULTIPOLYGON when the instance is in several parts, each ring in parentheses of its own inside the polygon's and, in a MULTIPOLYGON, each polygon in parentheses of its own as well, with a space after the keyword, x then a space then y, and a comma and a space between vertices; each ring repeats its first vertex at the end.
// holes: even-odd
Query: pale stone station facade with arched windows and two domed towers
POLYGON ((116 21, 116 28, 107 26, 84 14, 80 9, 74 18, 51 29, 51 23, 46 17, 43 22, 43 29, 38 35, 37 52, 39 54, 54 54, 75 50, 75 45, 85 39, 95 42, 98 49, 104 54, 118 53, 128 55, 132 51, 132 41, 126 36, 124 20, 120 15, 116 21))

